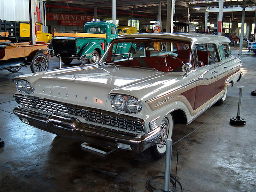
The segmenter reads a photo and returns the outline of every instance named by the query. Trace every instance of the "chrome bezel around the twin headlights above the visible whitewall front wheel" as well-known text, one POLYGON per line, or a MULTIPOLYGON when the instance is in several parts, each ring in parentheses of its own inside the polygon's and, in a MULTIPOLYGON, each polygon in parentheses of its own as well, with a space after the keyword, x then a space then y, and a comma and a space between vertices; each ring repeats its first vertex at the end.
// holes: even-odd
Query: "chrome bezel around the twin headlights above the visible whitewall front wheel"
POLYGON ((110 103, 111 103, 112 108, 113 108, 114 110, 116 110, 116 111, 119 111, 119 112, 126 112, 126 113, 131 113, 131 114, 137 114, 137 113, 139 113, 139 112, 142 110, 142 102, 141 102, 138 98, 136 98, 136 97, 129 96, 129 95, 125 95, 125 94, 109 94, 109 95, 108 95, 108 98, 109 98, 109 100, 110 100, 110 103), (124 100, 125 100, 125 106, 124 106, 123 109, 120 110, 120 109, 118 109, 118 108, 116 108, 116 107, 114 106, 114 103, 113 103, 114 97, 122 97, 122 98, 124 98, 124 100), (131 111, 131 110, 129 110, 129 109, 127 108, 127 101, 130 100, 130 99, 134 99, 134 100, 136 100, 136 101, 138 102, 139 107, 138 107, 138 110, 137 110, 137 111, 134 111, 134 112, 133 112, 133 111, 131 111))

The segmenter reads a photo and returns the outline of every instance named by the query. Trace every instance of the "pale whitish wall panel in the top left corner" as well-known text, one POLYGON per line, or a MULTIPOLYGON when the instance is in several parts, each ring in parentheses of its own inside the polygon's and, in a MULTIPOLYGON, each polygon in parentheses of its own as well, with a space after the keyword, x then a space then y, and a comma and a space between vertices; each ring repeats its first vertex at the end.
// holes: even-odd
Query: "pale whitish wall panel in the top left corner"
POLYGON ((29 21, 28 0, 0 0, 0 19, 29 21))

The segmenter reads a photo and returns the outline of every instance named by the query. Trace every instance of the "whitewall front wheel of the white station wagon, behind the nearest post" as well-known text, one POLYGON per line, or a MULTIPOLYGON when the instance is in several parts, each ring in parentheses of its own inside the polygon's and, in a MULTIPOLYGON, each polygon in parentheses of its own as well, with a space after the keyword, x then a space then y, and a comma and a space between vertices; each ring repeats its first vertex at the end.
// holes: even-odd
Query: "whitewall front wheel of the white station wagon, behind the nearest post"
POLYGON ((166 140, 172 138, 173 132, 173 117, 172 114, 168 114, 161 123, 161 135, 158 138, 156 144, 144 152, 142 156, 147 159, 159 159, 164 156, 166 152, 166 140))

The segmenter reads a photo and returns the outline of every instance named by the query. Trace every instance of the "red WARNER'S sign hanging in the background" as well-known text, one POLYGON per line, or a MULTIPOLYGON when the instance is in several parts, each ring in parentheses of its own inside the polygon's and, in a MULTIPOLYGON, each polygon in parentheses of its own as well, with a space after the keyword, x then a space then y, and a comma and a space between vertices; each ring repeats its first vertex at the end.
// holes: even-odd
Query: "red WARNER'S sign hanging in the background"
POLYGON ((60 25, 84 25, 84 23, 92 21, 92 16, 71 15, 71 14, 46 14, 47 20, 58 20, 60 25))

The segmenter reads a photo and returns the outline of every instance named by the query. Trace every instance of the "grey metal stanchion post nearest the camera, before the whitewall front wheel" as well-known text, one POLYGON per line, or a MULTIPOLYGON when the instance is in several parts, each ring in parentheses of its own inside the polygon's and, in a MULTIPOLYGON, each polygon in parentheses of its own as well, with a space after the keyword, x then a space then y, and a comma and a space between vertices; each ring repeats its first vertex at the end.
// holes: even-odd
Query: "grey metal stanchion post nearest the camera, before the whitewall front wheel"
POLYGON ((164 174, 164 192, 170 192, 170 176, 171 176, 171 160, 172 160, 172 140, 166 140, 166 160, 164 174))

